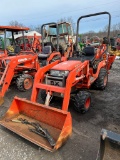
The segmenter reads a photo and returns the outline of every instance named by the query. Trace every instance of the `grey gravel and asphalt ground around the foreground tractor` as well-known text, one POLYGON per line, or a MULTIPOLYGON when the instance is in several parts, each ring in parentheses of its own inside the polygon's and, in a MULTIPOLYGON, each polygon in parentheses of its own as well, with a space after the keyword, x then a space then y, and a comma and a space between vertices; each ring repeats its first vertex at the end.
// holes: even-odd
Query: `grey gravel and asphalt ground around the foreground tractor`
MULTIPOLYGON (((81 115, 69 111, 73 120, 73 132, 67 143, 50 153, 0 126, 0 160, 95 160, 99 149, 102 128, 120 133, 120 60, 116 60, 109 74, 104 91, 91 90, 92 107, 81 115)), ((30 98, 31 92, 18 92, 11 86, 0 107, 0 116, 8 109, 13 97, 30 98)))

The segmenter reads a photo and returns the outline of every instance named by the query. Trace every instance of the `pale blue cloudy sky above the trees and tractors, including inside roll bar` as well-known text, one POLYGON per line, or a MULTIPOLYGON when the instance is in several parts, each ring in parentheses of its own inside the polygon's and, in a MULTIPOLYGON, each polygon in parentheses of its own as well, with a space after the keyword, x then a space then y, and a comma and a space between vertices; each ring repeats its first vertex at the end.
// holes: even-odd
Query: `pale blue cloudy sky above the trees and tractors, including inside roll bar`
MULTIPOLYGON (((25 26, 38 26, 71 17, 74 25, 80 16, 108 11, 112 25, 120 23, 120 0, 4 0, 0 2, 0 25, 18 21, 25 26)), ((102 30, 108 17, 95 17, 81 21, 81 31, 102 30)))

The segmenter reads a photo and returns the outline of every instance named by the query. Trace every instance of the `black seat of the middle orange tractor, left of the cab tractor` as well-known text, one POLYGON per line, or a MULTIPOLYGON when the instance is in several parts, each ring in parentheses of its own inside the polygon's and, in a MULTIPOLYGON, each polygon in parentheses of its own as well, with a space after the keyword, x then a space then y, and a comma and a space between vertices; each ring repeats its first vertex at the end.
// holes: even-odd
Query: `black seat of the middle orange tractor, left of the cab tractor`
POLYGON ((51 46, 44 46, 42 53, 38 54, 38 59, 47 59, 51 54, 51 46))

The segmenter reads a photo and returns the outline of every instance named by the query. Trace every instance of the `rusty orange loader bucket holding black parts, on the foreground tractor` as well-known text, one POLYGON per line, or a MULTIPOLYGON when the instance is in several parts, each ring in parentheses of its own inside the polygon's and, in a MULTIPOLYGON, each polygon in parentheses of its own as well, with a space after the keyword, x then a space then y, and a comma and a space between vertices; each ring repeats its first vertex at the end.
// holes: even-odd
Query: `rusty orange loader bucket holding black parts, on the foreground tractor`
POLYGON ((72 132, 72 119, 69 112, 33 103, 26 99, 15 97, 0 124, 36 145, 51 152, 61 147, 72 132), (51 146, 49 141, 30 131, 32 126, 21 123, 19 120, 39 123, 43 129, 47 129, 54 140, 51 146))

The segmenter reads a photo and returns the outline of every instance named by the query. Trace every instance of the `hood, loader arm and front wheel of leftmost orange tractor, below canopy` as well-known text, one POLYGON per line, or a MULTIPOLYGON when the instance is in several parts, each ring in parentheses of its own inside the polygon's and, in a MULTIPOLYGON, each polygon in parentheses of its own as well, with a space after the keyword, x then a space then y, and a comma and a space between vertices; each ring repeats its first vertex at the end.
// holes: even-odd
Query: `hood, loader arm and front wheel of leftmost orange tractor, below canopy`
POLYGON ((20 52, 17 56, 7 56, 0 59, 1 103, 12 82, 15 82, 20 91, 31 89, 34 75, 39 68, 37 54, 30 51, 20 52))

